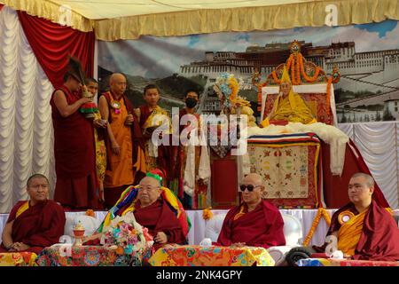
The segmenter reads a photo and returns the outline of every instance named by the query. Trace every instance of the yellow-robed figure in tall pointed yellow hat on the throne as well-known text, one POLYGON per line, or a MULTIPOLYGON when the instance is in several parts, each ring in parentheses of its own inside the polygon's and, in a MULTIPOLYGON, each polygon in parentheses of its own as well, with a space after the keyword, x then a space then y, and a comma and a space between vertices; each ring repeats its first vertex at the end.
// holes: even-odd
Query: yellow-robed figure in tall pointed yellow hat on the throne
POLYGON ((303 124, 310 124, 317 122, 309 106, 296 92, 293 92, 293 86, 284 66, 283 75, 280 81, 280 93, 274 102, 273 109, 268 117, 262 122, 262 127, 267 127, 270 124, 283 124, 287 122, 301 122, 303 124))

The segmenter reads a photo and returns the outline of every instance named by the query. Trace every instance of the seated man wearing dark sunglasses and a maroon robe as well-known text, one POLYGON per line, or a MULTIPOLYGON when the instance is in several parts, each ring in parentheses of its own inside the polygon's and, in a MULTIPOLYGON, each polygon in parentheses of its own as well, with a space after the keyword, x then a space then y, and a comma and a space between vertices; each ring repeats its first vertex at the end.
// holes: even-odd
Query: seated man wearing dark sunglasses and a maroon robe
POLYGON ((227 213, 216 245, 284 246, 283 217, 273 204, 262 200, 262 177, 248 174, 239 188, 243 202, 227 213))

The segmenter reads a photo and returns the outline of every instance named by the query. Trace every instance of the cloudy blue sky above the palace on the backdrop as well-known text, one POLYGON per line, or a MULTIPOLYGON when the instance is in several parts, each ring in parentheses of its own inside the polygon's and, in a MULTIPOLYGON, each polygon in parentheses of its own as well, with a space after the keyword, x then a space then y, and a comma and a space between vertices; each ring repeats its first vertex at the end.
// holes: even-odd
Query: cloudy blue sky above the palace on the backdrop
POLYGON ((227 32, 194 36, 154 37, 98 42, 98 65, 146 78, 162 78, 179 67, 205 59, 206 51, 246 51, 251 45, 290 43, 294 39, 317 45, 355 41, 356 52, 399 48, 395 20, 344 27, 291 28, 267 32, 227 32))

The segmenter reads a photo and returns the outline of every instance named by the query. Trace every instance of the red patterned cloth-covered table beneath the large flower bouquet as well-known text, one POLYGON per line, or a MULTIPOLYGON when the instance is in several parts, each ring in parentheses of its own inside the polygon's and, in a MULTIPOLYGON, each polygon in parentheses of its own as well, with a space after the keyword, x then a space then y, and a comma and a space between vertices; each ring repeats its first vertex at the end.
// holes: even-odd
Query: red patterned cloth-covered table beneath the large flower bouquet
POLYGON ((39 266, 139 266, 138 256, 118 255, 103 246, 62 246, 44 248, 36 258, 39 266))

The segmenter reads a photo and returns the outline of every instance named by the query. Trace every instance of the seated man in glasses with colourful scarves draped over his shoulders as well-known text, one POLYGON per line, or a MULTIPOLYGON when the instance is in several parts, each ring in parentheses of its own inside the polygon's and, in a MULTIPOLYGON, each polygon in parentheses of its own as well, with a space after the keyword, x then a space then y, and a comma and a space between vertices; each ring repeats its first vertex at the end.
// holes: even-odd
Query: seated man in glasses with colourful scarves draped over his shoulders
POLYGON ((189 231, 187 215, 174 193, 162 187, 160 170, 148 172, 139 185, 129 186, 98 228, 97 233, 86 239, 98 244, 101 232, 114 217, 132 211, 138 224, 148 228, 153 236, 154 248, 167 243, 184 244, 189 231))

